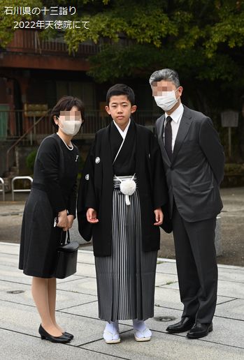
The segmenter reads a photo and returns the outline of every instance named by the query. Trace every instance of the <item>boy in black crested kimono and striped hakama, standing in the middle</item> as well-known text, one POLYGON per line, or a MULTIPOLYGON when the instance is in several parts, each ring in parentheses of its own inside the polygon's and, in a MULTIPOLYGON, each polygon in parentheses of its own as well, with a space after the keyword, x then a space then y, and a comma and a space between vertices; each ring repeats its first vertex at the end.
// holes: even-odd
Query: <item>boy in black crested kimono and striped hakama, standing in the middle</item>
POLYGON ((132 319, 135 339, 146 341, 166 183, 154 135, 131 119, 134 91, 115 84, 106 101, 113 121, 96 133, 82 172, 79 231, 93 239, 104 340, 119 343, 118 320, 132 319))

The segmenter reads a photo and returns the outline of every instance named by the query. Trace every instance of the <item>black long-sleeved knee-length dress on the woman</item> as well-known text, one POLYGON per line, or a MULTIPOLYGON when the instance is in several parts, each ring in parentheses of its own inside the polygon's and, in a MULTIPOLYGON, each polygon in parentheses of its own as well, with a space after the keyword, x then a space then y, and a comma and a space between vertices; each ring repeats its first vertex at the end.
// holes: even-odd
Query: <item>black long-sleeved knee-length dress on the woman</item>
POLYGON ((36 155, 22 220, 19 269, 26 275, 52 278, 62 234, 54 219, 64 209, 76 215, 77 174, 78 148, 67 148, 57 134, 46 137, 36 155))

